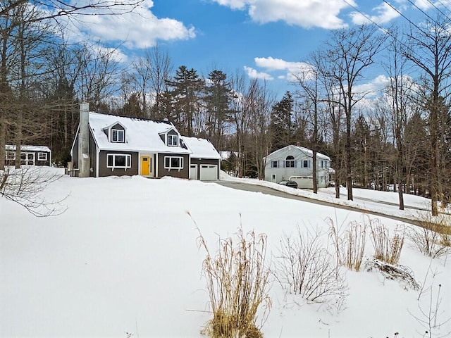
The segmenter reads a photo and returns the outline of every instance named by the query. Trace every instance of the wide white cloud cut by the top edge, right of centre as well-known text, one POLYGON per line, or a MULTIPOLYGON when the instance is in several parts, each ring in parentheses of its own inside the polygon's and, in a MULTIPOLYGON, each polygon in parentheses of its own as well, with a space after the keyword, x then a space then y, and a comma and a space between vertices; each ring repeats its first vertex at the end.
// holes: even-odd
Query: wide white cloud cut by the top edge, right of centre
POLYGON ((354 0, 213 0, 233 9, 247 10, 257 23, 284 21, 289 25, 335 29, 345 27, 338 18, 342 9, 357 6, 354 0), (349 5, 348 5, 349 4, 349 5))

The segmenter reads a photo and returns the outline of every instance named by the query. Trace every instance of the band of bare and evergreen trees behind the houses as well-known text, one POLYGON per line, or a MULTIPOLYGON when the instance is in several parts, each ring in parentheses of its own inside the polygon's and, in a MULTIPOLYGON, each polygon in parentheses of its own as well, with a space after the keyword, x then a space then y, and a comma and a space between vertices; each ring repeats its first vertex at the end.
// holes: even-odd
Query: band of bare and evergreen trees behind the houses
POLYGON ((400 208, 402 194, 421 194, 437 213, 436 202, 450 195, 451 36, 443 13, 405 29, 331 31, 276 101, 265 82, 239 70, 174 71, 160 46, 124 65, 114 49, 69 44, 64 27, 30 2, 11 4, 0 5, 0 169, 5 144, 48 145, 65 165, 83 101, 99 113, 171 120, 182 134, 232 151, 223 165, 240 177, 263 177, 264 156, 298 144, 332 158, 338 198, 342 185, 347 199, 352 187, 393 187, 400 208), (386 81, 373 91, 364 84, 376 65, 386 81))

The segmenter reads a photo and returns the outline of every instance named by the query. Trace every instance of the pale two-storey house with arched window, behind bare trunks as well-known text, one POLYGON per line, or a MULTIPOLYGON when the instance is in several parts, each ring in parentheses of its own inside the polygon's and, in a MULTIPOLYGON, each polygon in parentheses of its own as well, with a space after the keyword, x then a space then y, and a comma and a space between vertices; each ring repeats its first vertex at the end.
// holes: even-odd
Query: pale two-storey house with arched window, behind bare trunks
MULTIPOLYGON (((265 164, 265 180, 280 182, 294 180, 299 188, 313 188, 313 151, 302 146, 285 146, 268 154, 265 164)), ((330 157, 316 153, 316 177, 319 188, 328 187, 330 157)))

